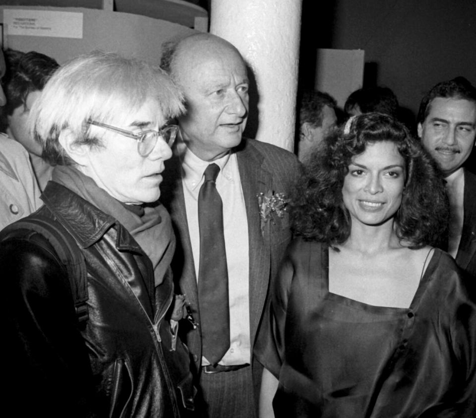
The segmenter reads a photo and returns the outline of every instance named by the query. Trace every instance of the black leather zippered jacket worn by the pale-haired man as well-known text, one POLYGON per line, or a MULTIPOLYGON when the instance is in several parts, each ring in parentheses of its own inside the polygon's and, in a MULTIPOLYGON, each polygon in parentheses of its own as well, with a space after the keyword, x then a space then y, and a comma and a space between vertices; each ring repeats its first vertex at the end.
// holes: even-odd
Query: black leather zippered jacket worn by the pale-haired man
POLYGON ((178 417, 178 382, 164 354, 167 361, 181 358, 181 371, 188 355, 180 343, 179 353, 169 350, 172 335, 163 318, 173 300, 172 278, 154 290, 152 263, 131 235, 66 187, 50 181, 42 198, 41 213, 59 220, 84 254, 89 320, 78 328, 64 266, 46 239, 17 230, 2 240, 11 411, 178 417))

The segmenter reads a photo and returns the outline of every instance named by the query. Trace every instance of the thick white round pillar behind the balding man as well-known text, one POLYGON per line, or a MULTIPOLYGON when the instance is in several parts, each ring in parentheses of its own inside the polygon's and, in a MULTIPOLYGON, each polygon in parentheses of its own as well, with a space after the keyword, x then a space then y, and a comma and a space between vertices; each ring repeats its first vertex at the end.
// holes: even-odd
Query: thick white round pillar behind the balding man
MULTIPOLYGON (((210 33, 235 45, 256 77, 259 95, 256 139, 290 151, 294 149, 301 3, 301 0, 212 0, 211 3, 210 33)), ((253 116, 248 120, 252 122, 253 116)))

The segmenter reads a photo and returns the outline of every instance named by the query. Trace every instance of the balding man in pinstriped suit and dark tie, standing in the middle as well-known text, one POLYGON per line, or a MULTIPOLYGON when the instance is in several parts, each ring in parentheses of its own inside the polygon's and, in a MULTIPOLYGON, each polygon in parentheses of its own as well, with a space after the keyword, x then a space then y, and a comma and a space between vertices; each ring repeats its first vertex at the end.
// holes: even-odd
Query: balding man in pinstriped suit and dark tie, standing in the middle
POLYGON ((298 161, 242 138, 249 81, 232 44, 191 35, 166 46, 162 67, 187 108, 161 202, 178 238, 174 276, 193 317, 180 329, 204 399, 200 413, 252 418, 262 372, 252 350, 269 281, 291 239, 284 209, 298 161))

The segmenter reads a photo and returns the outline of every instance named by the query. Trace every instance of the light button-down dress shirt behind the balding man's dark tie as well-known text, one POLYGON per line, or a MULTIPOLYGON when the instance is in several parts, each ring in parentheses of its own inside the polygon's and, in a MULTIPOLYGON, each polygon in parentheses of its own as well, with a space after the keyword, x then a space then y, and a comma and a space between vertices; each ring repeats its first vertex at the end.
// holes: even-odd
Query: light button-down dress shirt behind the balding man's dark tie
MULTIPOLYGON (((198 193, 203 173, 211 164, 193 154, 182 142, 182 185, 185 198, 188 232, 192 246, 195 274, 198 280, 200 235, 198 230, 198 193)), ((223 365, 250 363, 249 338, 249 253, 248 221, 243 190, 239 179, 238 160, 234 153, 213 161, 220 167, 216 180, 217 191, 223 202, 223 226, 228 265, 228 293, 230 306, 230 348, 220 361, 223 365)), ((210 362, 202 358, 202 364, 210 362)))

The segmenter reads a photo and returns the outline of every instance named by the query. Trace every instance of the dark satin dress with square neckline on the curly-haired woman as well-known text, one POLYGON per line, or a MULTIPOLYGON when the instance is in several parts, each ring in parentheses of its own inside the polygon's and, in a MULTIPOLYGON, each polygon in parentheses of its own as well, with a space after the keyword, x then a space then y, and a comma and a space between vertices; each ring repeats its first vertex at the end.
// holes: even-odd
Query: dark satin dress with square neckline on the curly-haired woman
POLYGON ((297 239, 255 348, 276 417, 476 417, 476 305, 439 249, 408 309, 328 291, 328 247, 297 239))

